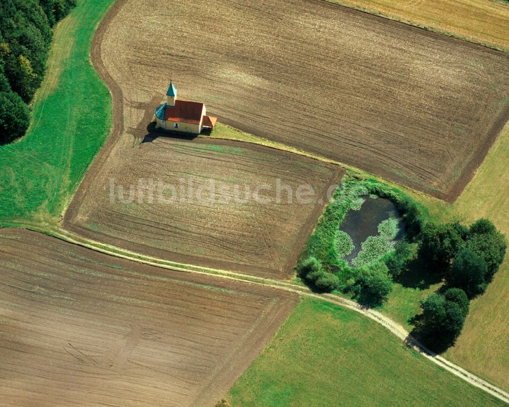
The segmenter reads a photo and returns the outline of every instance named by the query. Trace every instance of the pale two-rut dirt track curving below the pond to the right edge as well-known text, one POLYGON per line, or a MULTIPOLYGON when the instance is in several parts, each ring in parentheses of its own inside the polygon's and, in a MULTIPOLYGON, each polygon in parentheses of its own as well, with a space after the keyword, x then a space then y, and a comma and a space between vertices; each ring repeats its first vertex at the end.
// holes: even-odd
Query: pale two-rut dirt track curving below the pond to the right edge
POLYGON ((185 273, 195 273, 202 275, 214 275, 228 280, 236 280, 239 282, 247 283, 247 284, 258 284, 264 285, 271 288, 276 288, 280 290, 285 290, 293 293, 297 293, 300 295, 307 295, 311 297, 315 297, 317 299, 321 299, 323 301, 327 301, 332 304, 336 304, 355 312, 358 312, 368 318, 373 319, 374 321, 381 324, 387 330, 389 330, 393 335, 400 338, 405 344, 409 347, 413 348, 419 354, 426 357, 431 362, 437 364, 441 368, 453 373, 454 375, 462 378, 467 383, 470 383, 472 386, 475 386, 479 389, 484 390, 485 392, 491 394, 492 396, 498 398, 499 400, 509 404, 509 393, 504 392, 502 389, 484 381, 482 378, 477 377, 476 375, 466 371, 460 366, 455 365, 454 363, 449 362, 448 360, 442 358, 441 356, 435 354, 434 352, 427 349, 425 346, 421 345, 417 340, 415 340, 400 324, 394 322, 390 318, 384 316, 378 311, 362 307, 361 305, 355 303, 354 301, 344 299, 340 296, 334 294, 319 294, 312 292, 308 287, 301 286, 293 283, 289 283, 286 281, 274 280, 263 277, 255 277, 248 276, 240 273, 229 272, 228 270, 219 270, 212 269, 207 267, 199 267, 193 266, 190 264, 179 264, 168 260, 153 258, 150 256, 144 256, 139 253, 129 252, 114 246, 104 245, 103 243, 96 242, 93 240, 83 239, 82 237, 76 236, 64 229, 53 229, 51 232, 45 231, 43 228, 38 227, 36 224, 34 225, 24 225, 27 226, 27 229, 38 231, 42 233, 49 234, 53 237, 59 238, 61 240, 67 241, 69 243, 73 243, 75 245, 82 246, 84 248, 88 248, 91 250, 98 251, 100 253, 104 253, 111 256, 120 257, 127 260, 136 261, 139 263, 157 266, 161 268, 171 269, 174 271, 185 272, 185 273))

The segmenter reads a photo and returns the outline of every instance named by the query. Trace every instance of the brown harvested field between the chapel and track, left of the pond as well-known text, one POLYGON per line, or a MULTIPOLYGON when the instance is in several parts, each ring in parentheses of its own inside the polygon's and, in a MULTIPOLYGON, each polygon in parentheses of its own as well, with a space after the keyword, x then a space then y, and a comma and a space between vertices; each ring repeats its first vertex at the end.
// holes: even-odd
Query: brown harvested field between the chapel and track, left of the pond
POLYGON ((179 263, 289 278, 341 173, 332 164, 240 142, 119 143, 82 201, 73 201, 66 227, 179 263), (300 185, 314 196, 299 201, 300 185))

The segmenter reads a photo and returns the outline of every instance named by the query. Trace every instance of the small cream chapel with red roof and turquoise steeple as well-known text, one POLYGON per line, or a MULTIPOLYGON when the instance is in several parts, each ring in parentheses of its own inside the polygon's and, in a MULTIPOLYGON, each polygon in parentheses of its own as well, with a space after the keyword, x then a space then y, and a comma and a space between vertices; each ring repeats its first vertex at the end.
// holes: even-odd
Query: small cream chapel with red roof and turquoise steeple
POLYGON ((177 99, 177 88, 170 80, 166 92, 166 103, 155 110, 156 128, 179 131, 182 133, 200 134, 210 132, 217 121, 216 117, 207 116, 205 104, 177 99))

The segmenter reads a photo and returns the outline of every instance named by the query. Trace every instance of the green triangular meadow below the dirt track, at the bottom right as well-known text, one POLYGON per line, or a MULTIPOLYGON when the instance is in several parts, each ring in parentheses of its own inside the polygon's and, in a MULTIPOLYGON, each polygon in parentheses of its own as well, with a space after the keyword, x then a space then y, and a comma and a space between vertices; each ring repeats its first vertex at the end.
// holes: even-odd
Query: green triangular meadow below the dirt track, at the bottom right
POLYGON ((353 311, 301 299, 226 396, 233 407, 505 405, 353 311))

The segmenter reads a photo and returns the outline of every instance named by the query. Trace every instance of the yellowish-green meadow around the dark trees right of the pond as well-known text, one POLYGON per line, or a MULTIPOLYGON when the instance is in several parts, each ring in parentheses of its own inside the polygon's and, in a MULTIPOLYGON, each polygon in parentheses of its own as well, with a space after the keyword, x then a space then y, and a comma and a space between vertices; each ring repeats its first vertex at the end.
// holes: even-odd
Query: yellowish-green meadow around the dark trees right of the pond
MULTIPOLYGON (((483 164, 461 196, 446 204, 430 196, 402 190, 426 206, 428 218, 436 222, 490 219, 509 239, 509 123, 501 131, 483 164)), ((436 291, 440 283, 420 275, 413 283, 395 284, 380 311, 408 328, 408 318, 419 310, 418 301, 436 291)), ((509 253, 486 292, 470 302, 462 334, 445 357, 472 373, 509 391, 509 253)))

